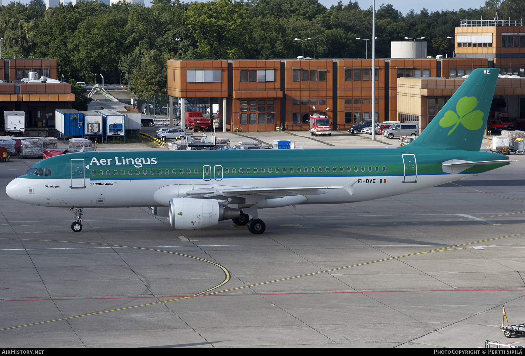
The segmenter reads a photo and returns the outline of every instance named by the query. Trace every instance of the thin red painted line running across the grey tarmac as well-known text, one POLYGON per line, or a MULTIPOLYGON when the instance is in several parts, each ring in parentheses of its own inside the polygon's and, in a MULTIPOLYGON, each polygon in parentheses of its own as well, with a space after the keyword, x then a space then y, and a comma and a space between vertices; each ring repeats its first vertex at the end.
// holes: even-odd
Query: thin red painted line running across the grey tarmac
MULTIPOLYGON (((366 293, 413 293, 413 292, 525 292, 522 289, 436 289, 436 290, 376 290, 376 291, 354 291, 354 292, 307 292, 307 293, 260 293, 260 294, 227 294, 227 295, 211 295, 199 297, 249 297, 249 296, 295 296, 308 294, 366 294, 366 293)), ((140 298, 185 298, 191 296, 167 296, 167 297, 109 297, 109 298, 64 298, 64 299, 17 299, 17 300, 0 300, 0 301, 42 301, 42 300, 104 300, 104 299, 140 299, 140 298)))

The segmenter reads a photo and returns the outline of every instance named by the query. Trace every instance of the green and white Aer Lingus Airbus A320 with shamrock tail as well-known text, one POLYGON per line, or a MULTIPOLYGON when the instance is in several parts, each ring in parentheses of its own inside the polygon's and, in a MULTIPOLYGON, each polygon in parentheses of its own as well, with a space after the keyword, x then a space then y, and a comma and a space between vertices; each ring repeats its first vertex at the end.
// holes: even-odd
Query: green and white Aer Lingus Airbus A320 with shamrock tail
POLYGON ((70 208, 75 232, 83 208, 152 207, 176 229, 233 219, 262 234, 258 209, 379 199, 509 164, 479 151, 498 72, 472 71, 423 133, 395 149, 80 152, 36 163, 6 192, 70 208))

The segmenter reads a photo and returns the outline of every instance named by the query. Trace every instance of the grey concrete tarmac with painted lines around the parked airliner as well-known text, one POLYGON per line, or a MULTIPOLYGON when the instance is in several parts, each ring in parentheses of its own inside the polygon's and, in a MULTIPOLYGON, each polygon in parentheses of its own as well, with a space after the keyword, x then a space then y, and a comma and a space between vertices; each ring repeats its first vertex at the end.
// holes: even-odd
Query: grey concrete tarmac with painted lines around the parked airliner
MULTIPOLYGON (((285 134, 306 149, 385 145, 346 133, 238 141, 285 134)), ((99 145, 115 149, 145 146, 99 145)), ((524 158, 510 158, 410 194, 262 210, 262 235, 232 221, 177 231, 148 208, 86 210, 74 233, 69 210, 5 194, 38 160, 0 163, 0 347, 524 343, 499 328, 503 306, 525 322, 524 158)))

